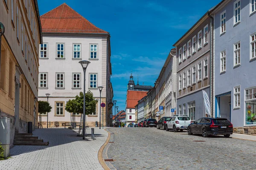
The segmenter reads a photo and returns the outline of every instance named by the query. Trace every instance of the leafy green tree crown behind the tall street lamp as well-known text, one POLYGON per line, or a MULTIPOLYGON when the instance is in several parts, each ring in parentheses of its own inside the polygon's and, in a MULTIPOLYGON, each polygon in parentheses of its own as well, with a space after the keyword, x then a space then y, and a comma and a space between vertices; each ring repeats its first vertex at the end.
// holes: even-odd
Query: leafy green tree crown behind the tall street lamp
MULTIPOLYGON (((91 91, 87 91, 87 93, 85 93, 85 114, 86 115, 95 112, 97 102, 98 101, 93 98, 93 93, 91 91)), ((83 114, 84 112, 83 109, 84 109, 83 92, 80 92, 75 99, 69 100, 65 106, 65 110, 70 113, 83 114)))

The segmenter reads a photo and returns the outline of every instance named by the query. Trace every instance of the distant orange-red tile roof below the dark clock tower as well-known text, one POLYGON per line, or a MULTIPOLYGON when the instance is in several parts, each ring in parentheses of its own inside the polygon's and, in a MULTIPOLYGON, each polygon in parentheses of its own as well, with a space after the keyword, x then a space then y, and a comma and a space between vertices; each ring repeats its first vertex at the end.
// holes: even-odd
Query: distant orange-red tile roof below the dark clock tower
POLYGON ((147 95, 147 91, 128 91, 127 108, 135 108, 138 101, 147 95))

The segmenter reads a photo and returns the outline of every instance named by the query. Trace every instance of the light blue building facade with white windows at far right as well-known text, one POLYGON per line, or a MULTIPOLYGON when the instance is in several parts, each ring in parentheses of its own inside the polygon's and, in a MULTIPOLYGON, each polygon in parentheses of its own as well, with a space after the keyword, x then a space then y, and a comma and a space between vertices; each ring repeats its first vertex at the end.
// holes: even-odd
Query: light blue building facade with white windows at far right
POLYGON ((256 126, 256 0, 223 0, 211 15, 215 117, 256 126))

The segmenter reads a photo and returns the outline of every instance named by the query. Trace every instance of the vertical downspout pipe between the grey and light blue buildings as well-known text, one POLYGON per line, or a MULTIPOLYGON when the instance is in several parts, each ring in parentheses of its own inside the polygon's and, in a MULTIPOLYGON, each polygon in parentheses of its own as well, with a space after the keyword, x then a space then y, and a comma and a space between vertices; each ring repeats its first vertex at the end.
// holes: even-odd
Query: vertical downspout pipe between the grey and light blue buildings
POLYGON ((208 11, 208 17, 211 18, 211 31, 210 31, 210 101, 211 101, 211 116, 213 117, 213 29, 214 22, 213 17, 210 15, 210 11, 208 11))

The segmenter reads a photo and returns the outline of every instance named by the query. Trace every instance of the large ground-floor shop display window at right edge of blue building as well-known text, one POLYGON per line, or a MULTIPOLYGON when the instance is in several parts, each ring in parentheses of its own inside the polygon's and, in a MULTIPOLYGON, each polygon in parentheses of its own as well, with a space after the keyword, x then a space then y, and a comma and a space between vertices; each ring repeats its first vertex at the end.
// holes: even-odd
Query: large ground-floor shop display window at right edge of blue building
POLYGON ((256 87, 245 89, 245 124, 256 125, 256 87))

